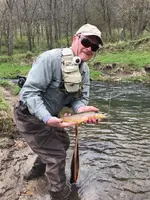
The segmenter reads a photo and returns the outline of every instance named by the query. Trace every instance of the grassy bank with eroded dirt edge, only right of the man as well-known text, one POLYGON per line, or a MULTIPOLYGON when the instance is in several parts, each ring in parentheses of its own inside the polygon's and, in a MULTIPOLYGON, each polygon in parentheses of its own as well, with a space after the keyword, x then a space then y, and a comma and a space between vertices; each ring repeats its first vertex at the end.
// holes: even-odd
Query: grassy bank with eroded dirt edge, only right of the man
POLYGON ((91 79, 150 83, 150 38, 107 44, 89 62, 91 79))

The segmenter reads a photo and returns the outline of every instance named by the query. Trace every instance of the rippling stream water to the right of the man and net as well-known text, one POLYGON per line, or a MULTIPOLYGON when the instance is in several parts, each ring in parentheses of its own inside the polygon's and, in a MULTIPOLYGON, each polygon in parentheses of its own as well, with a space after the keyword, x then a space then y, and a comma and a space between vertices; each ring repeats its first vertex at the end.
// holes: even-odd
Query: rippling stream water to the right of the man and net
POLYGON ((92 82, 90 96, 109 117, 79 127, 81 169, 72 199, 150 200, 150 86, 92 82))

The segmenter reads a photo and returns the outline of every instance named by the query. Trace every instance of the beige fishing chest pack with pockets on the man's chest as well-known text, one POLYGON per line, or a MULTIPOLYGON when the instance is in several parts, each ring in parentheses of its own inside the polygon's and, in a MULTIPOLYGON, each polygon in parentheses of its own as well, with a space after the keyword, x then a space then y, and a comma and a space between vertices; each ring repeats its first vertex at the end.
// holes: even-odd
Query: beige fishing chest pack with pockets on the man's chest
POLYGON ((70 48, 62 49, 62 77, 67 92, 78 92, 81 87, 82 76, 79 70, 81 60, 74 57, 70 48))

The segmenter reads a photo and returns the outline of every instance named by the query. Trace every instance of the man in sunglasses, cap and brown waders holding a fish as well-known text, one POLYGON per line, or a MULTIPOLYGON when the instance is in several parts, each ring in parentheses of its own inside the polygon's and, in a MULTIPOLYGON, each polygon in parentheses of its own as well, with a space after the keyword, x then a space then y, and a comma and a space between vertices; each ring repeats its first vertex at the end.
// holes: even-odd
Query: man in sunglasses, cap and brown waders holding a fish
MULTIPOLYGON (((53 200, 69 198, 65 159, 69 136, 65 123, 58 117, 64 106, 75 113, 98 111, 87 106, 89 99, 90 60, 102 46, 101 32, 85 24, 74 35, 71 48, 53 49, 41 54, 33 63, 14 109, 16 125, 31 149, 38 155, 31 171, 31 180, 46 171, 53 200)), ((96 123, 90 118, 85 123, 96 123)))

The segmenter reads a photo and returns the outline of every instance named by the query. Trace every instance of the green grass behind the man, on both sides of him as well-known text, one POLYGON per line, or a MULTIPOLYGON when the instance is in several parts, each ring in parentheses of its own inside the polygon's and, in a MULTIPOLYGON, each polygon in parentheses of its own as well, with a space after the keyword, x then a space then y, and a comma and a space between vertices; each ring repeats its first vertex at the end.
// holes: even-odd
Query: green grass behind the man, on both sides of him
MULTIPOLYGON (((91 78, 99 80, 103 77, 100 70, 94 70, 92 66, 116 63, 119 67, 124 66, 126 70, 139 70, 150 65, 149 50, 150 38, 142 38, 136 41, 118 42, 107 44, 100 53, 89 62, 91 78), (135 48, 136 47, 136 48, 135 48), (126 67, 127 66, 127 67, 126 67)), ((32 52, 17 53, 12 57, 0 56, 0 78, 16 78, 18 75, 26 76, 36 57, 32 52)))

